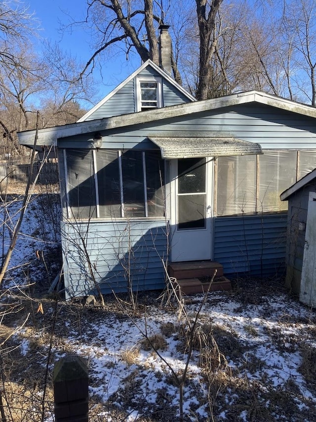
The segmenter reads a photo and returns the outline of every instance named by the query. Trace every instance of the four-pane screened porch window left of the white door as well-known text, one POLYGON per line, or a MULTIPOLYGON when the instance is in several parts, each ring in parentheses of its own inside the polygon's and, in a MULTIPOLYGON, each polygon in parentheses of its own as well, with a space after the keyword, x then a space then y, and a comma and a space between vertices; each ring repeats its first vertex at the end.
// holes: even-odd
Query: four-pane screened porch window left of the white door
POLYGON ((65 156, 70 218, 164 216, 160 151, 67 149, 65 156))

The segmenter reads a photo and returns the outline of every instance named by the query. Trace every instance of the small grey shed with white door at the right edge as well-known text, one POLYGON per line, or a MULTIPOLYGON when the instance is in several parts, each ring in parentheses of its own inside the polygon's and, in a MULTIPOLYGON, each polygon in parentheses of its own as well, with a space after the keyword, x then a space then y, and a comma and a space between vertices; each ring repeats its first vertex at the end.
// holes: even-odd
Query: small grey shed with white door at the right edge
POLYGON ((286 285, 303 303, 315 306, 316 169, 284 190, 280 199, 288 201, 286 285))

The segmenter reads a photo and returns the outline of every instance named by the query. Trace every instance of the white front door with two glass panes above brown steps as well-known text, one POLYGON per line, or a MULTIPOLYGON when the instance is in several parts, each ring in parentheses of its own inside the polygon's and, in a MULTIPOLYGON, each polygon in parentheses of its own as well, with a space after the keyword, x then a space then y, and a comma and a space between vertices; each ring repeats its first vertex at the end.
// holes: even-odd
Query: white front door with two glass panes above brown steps
POLYGON ((171 160, 170 173, 171 261, 211 259, 213 160, 171 160))

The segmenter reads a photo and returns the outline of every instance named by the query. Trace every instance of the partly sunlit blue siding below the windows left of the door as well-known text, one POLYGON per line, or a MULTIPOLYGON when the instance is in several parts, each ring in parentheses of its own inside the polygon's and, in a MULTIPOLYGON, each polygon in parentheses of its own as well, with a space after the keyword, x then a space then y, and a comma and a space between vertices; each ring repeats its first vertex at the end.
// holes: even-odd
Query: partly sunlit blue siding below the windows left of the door
POLYGON ((96 294, 88 261, 103 294, 127 291, 127 268, 134 290, 163 288, 165 232, 164 221, 63 222, 66 299, 96 294))

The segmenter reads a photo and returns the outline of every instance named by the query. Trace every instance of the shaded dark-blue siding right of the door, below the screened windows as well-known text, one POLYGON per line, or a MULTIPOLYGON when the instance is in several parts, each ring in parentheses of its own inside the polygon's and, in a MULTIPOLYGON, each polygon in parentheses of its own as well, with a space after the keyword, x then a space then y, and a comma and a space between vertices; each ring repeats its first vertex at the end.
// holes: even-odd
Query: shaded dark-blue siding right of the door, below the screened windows
POLYGON ((272 276, 285 270, 286 214, 217 217, 214 261, 224 274, 272 276))

